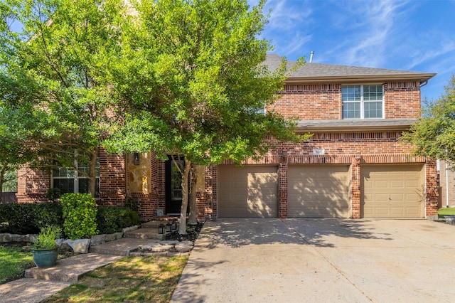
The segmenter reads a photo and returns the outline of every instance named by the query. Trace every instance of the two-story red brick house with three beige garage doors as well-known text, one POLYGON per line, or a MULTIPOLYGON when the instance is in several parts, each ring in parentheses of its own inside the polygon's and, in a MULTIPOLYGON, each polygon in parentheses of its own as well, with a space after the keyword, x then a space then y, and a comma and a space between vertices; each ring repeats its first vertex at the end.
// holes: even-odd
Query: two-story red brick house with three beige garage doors
MULTIPOLYGON (((269 68, 280 62, 267 56, 269 68)), ((398 140, 419 117, 420 87, 434 75, 319 63, 296 69, 266 110, 296 117, 296 131, 313 137, 276 142, 261 161, 241 167, 229 161, 200 167, 198 219, 434 218, 436 161, 412 156, 398 140)), ((102 151, 98 203, 133 201, 142 220, 179 213, 181 188, 170 159, 102 151)), ((50 187, 77 192, 85 184, 68 171, 24 173, 18 174, 20 203, 43 199, 50 187)))

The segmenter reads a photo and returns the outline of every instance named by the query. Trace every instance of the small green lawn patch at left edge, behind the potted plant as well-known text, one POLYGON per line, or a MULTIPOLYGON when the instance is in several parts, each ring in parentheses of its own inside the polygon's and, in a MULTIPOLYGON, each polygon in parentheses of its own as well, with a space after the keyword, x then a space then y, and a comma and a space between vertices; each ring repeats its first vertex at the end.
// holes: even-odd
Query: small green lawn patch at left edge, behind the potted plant
POLYGON ((33 267, 31 244, 0 245, 0 283, 23 277, 27 268, 33 267))

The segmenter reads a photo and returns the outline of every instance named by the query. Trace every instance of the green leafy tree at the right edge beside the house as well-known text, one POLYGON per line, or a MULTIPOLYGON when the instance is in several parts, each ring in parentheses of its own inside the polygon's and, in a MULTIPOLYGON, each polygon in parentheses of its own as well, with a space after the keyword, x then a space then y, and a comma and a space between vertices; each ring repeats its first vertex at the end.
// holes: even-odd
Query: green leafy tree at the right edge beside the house
POLYGON ((422 117, 412 124, 402 140, 414 145, 414 154, 455 163, 455 75, 452 75, 445 93, 429 102, 422 117))

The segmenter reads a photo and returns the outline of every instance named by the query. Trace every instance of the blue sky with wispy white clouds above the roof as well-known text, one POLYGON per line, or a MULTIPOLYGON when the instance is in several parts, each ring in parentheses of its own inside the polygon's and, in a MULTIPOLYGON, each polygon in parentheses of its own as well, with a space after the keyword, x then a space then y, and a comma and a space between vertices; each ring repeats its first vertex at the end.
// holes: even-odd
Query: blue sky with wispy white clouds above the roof
POLYGON ((262 37, 288 60, 314 50, 314 63, 437 73, 422 100, 438 99, 455 73, 455 0, 269 0, 269 9, 262 37))

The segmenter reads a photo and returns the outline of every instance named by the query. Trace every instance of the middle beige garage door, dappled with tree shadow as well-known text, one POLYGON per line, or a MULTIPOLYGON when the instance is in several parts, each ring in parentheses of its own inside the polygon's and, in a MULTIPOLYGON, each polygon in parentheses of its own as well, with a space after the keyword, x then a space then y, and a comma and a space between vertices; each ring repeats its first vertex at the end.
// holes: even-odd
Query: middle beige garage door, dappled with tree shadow
POLYGON ((347 165, 289 165, 288 217, 348 218, 347 165))

